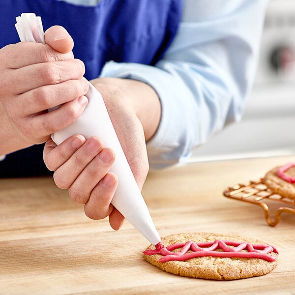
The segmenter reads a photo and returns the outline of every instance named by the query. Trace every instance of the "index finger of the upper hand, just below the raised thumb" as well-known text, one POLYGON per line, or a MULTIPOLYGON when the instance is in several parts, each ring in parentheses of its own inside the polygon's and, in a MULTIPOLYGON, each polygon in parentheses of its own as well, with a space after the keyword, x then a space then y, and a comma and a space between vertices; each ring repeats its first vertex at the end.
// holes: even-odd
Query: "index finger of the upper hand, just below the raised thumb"
POLYGON ((73 59, 73 52, 60 53, 47 44, 19 42, 1 50, 0 60, 7 68, 17 69, 30 64, 73 59))

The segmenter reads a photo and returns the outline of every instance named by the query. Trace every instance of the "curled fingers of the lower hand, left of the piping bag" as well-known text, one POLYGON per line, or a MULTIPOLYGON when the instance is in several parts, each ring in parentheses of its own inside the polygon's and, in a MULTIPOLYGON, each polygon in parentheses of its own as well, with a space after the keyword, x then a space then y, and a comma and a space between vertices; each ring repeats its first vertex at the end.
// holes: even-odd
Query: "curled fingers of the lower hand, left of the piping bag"
POLYGON ((57 146, 51 139, 44 147, 44 161, 59 188, 68 189, 70 197, 85 204, 86 215, 92 219, 109 216, 113 229, 118 230, 124 217, 111 204, 118 185, 109 170, 115 161, 112 149, 104 148, 96 137, 87 141, 73 135, 57 146))

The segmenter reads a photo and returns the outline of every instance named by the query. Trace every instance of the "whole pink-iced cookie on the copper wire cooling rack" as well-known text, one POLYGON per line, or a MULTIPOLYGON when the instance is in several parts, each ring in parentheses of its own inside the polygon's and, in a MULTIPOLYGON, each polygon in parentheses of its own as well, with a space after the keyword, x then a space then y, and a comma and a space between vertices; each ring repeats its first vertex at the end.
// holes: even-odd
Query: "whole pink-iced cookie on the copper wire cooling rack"
POLYGON ((295 163, 273 168, 266 173, 263 181, 275 194, 295 199, 295 163))

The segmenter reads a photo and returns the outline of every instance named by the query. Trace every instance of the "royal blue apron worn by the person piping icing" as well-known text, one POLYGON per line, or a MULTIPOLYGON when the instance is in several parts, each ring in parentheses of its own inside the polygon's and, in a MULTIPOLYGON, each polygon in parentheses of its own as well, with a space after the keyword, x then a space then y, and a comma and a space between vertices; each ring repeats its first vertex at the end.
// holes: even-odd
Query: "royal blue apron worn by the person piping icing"
MULTIPOLYGON (((182 0, 101 0, 83 6, 60 0, 0 0, 0 48, 19 42, 15 17, 41 16, 44 30, 63 26, 74 39, 74 56, 84 61, 85 77, 97 78, 109 61, 154 65, 174 39, 182 0)), ((0 177, 49 173, 43 145, 9 154, 0 162, 0 177)))

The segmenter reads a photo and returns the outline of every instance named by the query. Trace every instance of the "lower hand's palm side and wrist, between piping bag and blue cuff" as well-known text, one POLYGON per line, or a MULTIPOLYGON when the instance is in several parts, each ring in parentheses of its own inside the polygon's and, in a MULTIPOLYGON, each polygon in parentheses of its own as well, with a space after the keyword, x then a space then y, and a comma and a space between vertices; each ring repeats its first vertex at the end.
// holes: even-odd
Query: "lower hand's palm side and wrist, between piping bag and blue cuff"
POLYGON ((148 174, 146 142, 161 118, 157 93, 141 81, 97 78, 90 81, 101 93, 118 139, 140 189, 148 174))

